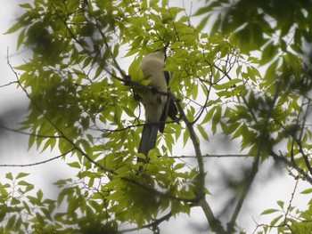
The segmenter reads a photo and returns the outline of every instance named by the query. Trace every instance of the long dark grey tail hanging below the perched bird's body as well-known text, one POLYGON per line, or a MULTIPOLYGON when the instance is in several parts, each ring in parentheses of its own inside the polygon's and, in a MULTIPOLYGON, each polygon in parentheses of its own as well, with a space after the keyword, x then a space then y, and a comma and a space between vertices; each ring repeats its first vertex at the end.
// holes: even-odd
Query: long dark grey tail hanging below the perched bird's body
POLYGON ((159 124, 144 125, 138 152, 144 154, 146 158, 138 157, 138 162, 146 163, 148 152, 155 148, 159 126, 159 124))

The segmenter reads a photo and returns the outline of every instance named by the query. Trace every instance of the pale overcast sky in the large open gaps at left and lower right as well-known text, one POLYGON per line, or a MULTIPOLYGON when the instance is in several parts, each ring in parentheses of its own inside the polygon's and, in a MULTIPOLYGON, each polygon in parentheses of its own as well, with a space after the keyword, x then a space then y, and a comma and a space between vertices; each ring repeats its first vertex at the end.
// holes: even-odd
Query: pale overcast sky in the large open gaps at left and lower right
MULTIPOLYGON (((17 4, 24 1, 1 0, 0 8, 0 124, 12 128, 18 128, 21 117, 27 113, 28 103, 27 97, 17 89, 16 85, 7 85, 16 80, 14 73, 7 64, 7 52, 9 52, 9 61, 12 66, 21 64, 27 60, 25 52, 16 52, 17 35, 4 35, 4 32, 12 26, 14 19, 21 13, 17 4)), ((229 149, 219 149, 220 138, 212 138, 209 145, 202 151, 209 154, 230 153, 229 149), (212 151, 212 149, 214 149, 212 151)), ((187 150, 186 150, 187 151, 187 150)), ((191 154, 192 151, 190 151, 191 154)), ((40 154, 36 149, 28 150, 28 136, 18 133, 7 132, 0 129, 0 165, 8 164, 31 164, 42 161, 58 155, 57 151, 51 153, 45 152, 40 154)), ((31 173, 29 180, 35 182, 37 189, 44 190, 44 194, 49 198, 56 198, 58 190, 53 186, 53 182, 59 179, 69 178, 75 175, 74 171, 70 171, 66 166, 69 161, 62 159, 54 160, 43 165, 31 167, 1 167, 0 181, 4 181, 5 173, 28 172, 31 173)), ((209 205, 213 211, 220 210, 224 206, 226 198, 228 198, 228 190, 218 186, 222 175, 226 172, 238 173, 242 170, 242 166, 250 165, 250 160, 245 158, 209 158, 205 159, 207 166, 207 185, 212 196, 208 196, 209 205)), ((295 186, 295 181, 287 175, 285 170, 274 174, 275 171, 271 161, 264 163, 256 177, 252 190, 250 191, 247 202, 242 209, 242 215, 238 222, 245 227, 247 233, 252 233, 256 227, 256 223, 271 221, 271 217, 260 216, 259 214, 267 208, 276 208, 275 202, 283 200, 286 204, 291 199, 291 193, 295 186), (272 179, 274 178, 274 179, 272 179)), ((306 189, 300 183, 299 188, 294 196, 293 205, 299 207, 307 206, 307 196, 299 194, 300 191, 306 189)), ((186 214, 180 215, 176 220, 170 220, 161 224, 161 233, 191 234, 193 230, 201 228, 205 230, 204 214, 200 208, 193 208, 191 217, 186 214)), ((146 233, 146 232, 143 232, 146 233)), ((200 232, 199 232, 200 233, 200 232)), ((275 233, 272 231, 271 233, 275 233)))

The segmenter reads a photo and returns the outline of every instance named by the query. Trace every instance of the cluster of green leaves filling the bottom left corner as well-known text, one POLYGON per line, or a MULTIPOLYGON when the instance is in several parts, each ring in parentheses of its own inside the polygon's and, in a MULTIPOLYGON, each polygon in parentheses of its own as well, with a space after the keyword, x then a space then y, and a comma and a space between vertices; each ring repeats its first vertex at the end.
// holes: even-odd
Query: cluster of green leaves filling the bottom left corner
POLYGON ((7 173, 8 183, 1 184, 1 233, 24 233, 32 230, 34 233, 72 233, 79 229, 84 233, 110 233, 116 229, 115 222, 101 222, 107 219, 105 203, 95 203, 88 199, 87 191, 81 190, 71 180, 56 184, 63 188, 57 201, 44 199, 43 192, 37 190, 36 196, 31 196, 34 185, 21 180, 28 176, 19 173, 15 178, 7 173), (56 213, 56 207, 64 203, 67 209, 56 213), (99 219, 101 217, 101 220, 99 219), (86 225, 87 223, 87 225, 86 225))

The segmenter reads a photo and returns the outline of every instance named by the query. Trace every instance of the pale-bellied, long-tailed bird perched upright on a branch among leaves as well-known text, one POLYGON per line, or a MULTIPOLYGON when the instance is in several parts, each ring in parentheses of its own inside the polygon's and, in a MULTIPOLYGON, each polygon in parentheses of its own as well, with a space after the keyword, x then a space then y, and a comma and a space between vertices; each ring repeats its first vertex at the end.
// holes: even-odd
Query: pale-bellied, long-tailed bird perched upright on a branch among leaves
POLYGON ((145 110, 145 124, 138 153, 143 153, 145 159, 138 157, 138 162, 147 162, 149 151, 155 148, 158 131, 164 132, 167 117, 174 121, 178 119, 175 102, 170 96, 157 92, 168 92, 170 74, 164 70, 167 47, 168 44, 163 49, 145 55, 140 63, 140 69, 144 77, 151 81, 149 85, 152 88, 140 93, 140 101, 145 110))

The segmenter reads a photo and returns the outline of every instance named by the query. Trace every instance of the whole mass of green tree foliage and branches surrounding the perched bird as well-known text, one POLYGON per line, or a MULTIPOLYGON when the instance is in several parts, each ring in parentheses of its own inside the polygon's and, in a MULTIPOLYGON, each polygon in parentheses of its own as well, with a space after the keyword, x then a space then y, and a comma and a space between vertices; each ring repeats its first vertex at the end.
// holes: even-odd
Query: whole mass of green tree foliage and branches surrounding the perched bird
MULTIPOLYGON (((43 200, 40 190, 37 197, 26 196, 33 187, 25 185, 23 206, 20 201, 13 210, 8 203, 17 201, 8 190, 21 175, 7 175, 13 183, 1 190, 9 198, 1 202, 1 217, 12 224, 2 229, 19 223, 40 233, 114 233, 130 222, 157 232, 160 222, 201 206, 211 230, 229 233, 263 160, 274 158, 312 184, 312 83, 305 53, 312 7, 304 0, 282 2, 206 1, 195 13, 203 19, 198 26, 184 7, 167 0, 21 4, 25 12, 7 32, 18 31, 17 47, 32 51, 29 61, 13 69, 30 100, 21 130, 29 133, 29 148, 74 156, 69 166, 79 172, 77 181, 56 182, 62 189, 57 201, 43 200), (213 27, 205 33, 208 23, 213 27), (166 70, 173 74, 170 91, 182 123, 168 123, 149 163, 136 164, 144 121, 133 89, 147 85, 137 68, 144 54, 168 43, 166 70), (130 66, 128 57, 134 60, 130 66), (205 199, 200 147, 210 132, 239 139, 240 149, 254 158, 227 226, 205 199), (182 157, 177 142, 189 141, 197 165, 172 157, 182 157), (66 211, 56 211, 65 200, 66 211)), ((278 231, 310 228, 308 209, 299 212, 300 222, 289 219, 278 231)))

